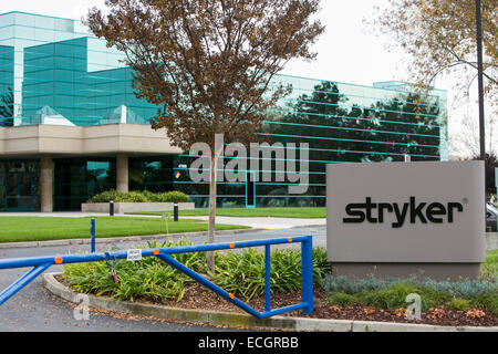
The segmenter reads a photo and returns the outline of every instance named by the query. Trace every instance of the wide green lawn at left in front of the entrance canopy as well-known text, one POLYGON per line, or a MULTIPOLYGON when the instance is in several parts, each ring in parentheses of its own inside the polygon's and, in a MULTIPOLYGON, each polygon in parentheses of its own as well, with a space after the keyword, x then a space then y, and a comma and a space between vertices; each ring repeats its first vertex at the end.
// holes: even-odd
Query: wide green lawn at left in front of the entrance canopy
MULTIPOLYGON (((90 238, 90 217, 0 217, 0 242, 42 241, 90 238)), ((168 222, 169 233, 206 231, 207 222, 180 220, 168 222)), ((248 228, 236 225, 216 226, 217 230, 248 228)), ((97 238, 166 233, 166 220, 139 217, 95 217, 97 238)))

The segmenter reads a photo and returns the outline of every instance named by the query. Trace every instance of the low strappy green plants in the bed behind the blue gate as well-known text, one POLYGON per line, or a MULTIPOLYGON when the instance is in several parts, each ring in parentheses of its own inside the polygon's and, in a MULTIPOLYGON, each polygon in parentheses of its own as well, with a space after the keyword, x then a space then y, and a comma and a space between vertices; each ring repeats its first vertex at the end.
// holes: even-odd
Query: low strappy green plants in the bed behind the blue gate
MULTIPOLYGON (((188 239, 177 242, 166 240, 162 243, 149 241, 141 248, 165 248, 193 244, 188 239)), ((216 272, 209 273, 205 252, 173 254, 177 261, 191 270, 208 274, 212 281, 239 299, 251 300, 264 293, 264 254, 255 248, 234 252, 217 251, 216 272)), ((315 279, 323 277, 329 263, 323 250, 313 252, 313 273, 315 279)), ((193 281, 155 257, 138 262, 118 260, 116 273, 118 283, 110 279, 110 269, 103 262, 64 264, 63 278, 77 291, 105 294, 121 300, 133 301, 137 298, 155 301, 180 300, 184 284, 193 281)), ((301 252, 299 250, 279 250, 271 252, 271 292, 294 291, 301 289, 301 252)))

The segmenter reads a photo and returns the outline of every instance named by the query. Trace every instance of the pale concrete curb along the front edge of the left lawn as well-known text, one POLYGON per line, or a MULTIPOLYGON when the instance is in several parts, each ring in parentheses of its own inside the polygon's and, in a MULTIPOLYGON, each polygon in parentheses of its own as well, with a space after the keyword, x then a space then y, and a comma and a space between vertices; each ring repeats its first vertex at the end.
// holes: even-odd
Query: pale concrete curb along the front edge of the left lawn
MULTIPOLYGON (((219 230, 216 235, 236 235, 245 232, 255 232, 266 229, 252 228, 252 229, 232 229, 232 230, 219 230)), ((195 232, 179 232, 179 233, 158 233, 158 235, 144 235, 144 236, 126 236, 126 237, 108 237, 108 238, 95 238, 95 243, 115 243, 134 241, 139 242, 144 240, 165 239, 168 237, 201 237, 207 236, 208 231, 195 231, 195 232)), ((30 247, 54 247, 54 246, 71 246, 71 244, 90 244, 90 236, 85 239, 65 239, 65 240, 50 240, 50 241, 27 241, 27 242, 1 242, 0 249, 10 248, 30 248, 30 247)))

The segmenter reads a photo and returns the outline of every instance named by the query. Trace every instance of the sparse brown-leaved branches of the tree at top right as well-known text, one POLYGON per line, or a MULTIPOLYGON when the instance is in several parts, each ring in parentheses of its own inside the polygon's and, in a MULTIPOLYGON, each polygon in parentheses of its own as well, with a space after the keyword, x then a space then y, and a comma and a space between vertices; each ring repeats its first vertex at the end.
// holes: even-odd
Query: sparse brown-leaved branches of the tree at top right
MULTIPOLYGON (((476 6, 474 0, 388 0, 376 7, 372 29, 393 38, 392 48, 409 55, 408 70, 421 86, 452 74, 458 96, 467 96, 477 77, 476 6)), ((481 0, 485 95, 497 102, 498 2, 481 0)))

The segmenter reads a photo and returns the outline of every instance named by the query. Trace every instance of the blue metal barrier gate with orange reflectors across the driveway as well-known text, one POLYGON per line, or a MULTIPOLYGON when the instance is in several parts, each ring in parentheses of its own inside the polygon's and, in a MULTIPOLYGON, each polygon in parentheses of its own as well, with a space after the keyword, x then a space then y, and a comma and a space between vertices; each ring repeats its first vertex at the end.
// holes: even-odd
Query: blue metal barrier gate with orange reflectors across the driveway
MULTIPOLYGON (((252 314, 258 319, 269 317, 283 312, 290 312, 295 310, 302 310, 304 314, 313 312, 313 256, 312 256, 312 237, 311 236, 300 236, 293 238, 280 238, 280 239, 268 239, 268 240, 251 240, 251 241, 239 241, 230 243, 209 243, 199 246, 184 246, 184 247, 168 247, 168 248, 155 248, 155 249, 141 249, 142 257, 157 257, 165 261, 173 268, 179 270, 186 275, 190 277, 195 281, 205 285, 206 288, 212 290, 221 298, 227 301, 232 302, 235 305, 239 306, 243 311, 252 314), (271 289, 270 289, 270 247, 271 244, 283 244, 283 243, 294 243, 301 242, 301 303, 271 310, 271 289), (217 251, 217 250, 229 250, 237 248, 247 247, 264 247, 264 311, 259 312, 241 300, 237 299, 232 293, 229 293, 216 285, 211 281, 207 280, 199 273, 193 271, 191 269, 185 267, 177 260, 170 257, 170 254, 188 253, 188 252, 206 252, 206 251, 217 251)), ((53 264, 64 264, 64 263, 85 263, 85 262, 98 262, 106 259, 113 258, 115 260, 126 259, 127 250, 105 252, 105 253, 90 253, 90 254, 68 254, 68 256, 48 256, 48 257, 33 257, 33 258, 14 258, 14 259, 2 259, 0 260, 0 269, 12 269, 12 268, 24 268, 33 267, 32 270, 27 272, 10 287, 4 289, 0 293, 0 305, 7 300, 13 296, 18 291, 24 288, 30 281, 41 274, 43 271, 49 269, 53 264)))

